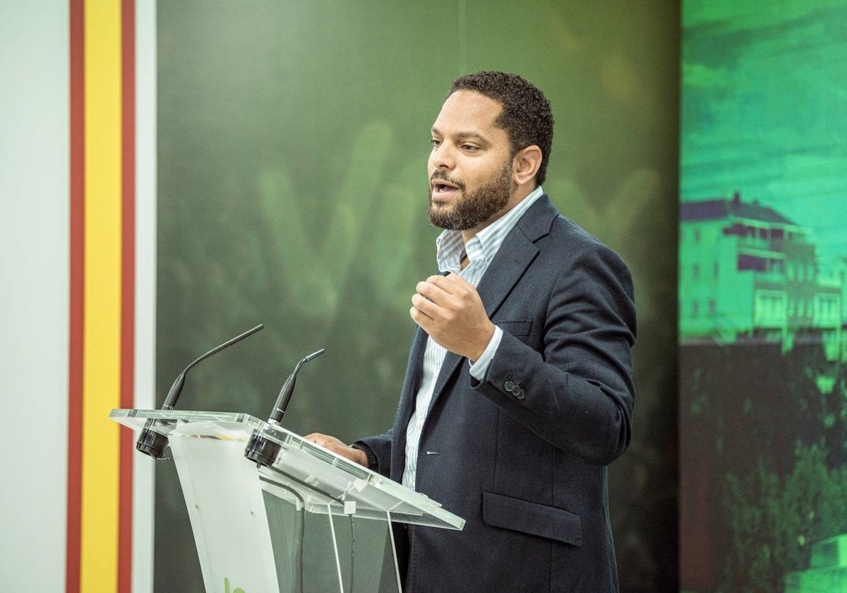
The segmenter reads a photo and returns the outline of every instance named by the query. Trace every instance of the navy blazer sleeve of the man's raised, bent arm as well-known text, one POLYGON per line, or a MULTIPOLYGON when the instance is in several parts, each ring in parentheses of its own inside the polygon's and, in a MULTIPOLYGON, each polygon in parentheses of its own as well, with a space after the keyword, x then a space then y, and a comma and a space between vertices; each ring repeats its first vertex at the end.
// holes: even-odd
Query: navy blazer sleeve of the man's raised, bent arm
POLYGON ((586 242, 567 254, 540 307, 540 350, 504 331, 484 379, 471 378, 471 387, 553 446, 612 463, 632 434, 631 274, 617 253, 586 242))

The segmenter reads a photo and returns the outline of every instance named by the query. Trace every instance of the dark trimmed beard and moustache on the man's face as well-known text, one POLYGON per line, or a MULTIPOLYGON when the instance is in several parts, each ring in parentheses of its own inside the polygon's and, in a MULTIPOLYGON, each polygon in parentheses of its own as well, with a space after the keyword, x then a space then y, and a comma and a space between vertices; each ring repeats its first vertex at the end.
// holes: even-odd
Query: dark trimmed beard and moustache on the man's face
POLYGON ((439 175, 438 171, 430 180, 429 189, 429 222, 441 229, 468 230, 479 226, 496 213, 506 208, 512 189, 512 163, 507 161, 500 169, 499 175, 484 186, 473 191, 465 191, 465 185, 451 180, 446 174, 439 175), (462 195, 452 208, 437 207, 432 201, 432 180, 443 179, 458 186, 462 195))

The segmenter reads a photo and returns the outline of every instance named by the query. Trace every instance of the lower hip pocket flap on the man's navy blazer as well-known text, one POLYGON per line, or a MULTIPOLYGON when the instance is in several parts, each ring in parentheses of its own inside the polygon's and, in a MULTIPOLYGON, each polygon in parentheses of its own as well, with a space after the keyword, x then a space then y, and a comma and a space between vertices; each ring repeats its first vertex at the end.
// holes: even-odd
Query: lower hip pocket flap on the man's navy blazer
POLYGON ((579 516, 562 508, 548 507, 494 492, 483 492, 482 518, 486 524, 493 527, 582 546, 582 522, 579 516))

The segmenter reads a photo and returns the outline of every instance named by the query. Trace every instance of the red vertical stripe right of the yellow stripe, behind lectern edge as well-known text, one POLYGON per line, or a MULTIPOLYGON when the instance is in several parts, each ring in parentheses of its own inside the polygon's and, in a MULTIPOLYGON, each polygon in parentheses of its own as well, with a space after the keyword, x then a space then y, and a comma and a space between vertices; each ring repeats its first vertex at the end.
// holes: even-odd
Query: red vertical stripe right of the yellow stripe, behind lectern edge
MULTIPOLYGON (((133 407, 136 320, 136 3, 121 6, 121 312, 120 407, 133 407)), ((132 590, 133 433, 120 431, 118 591, 132 590)))

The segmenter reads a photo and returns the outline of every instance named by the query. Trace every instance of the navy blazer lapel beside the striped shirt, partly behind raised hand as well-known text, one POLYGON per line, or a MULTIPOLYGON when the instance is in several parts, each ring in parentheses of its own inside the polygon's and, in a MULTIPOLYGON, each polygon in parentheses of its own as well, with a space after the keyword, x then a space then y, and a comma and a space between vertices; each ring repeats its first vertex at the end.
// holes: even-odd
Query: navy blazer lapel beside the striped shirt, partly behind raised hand
MULTIPOLYGON (((535 247, 534 242, 550 232, 551 224, 558 215, 558 211, 551 204, 549 198, 543 195, 529 207, 529 210, 518 220, 518 224, 515 224, 503 240, 500 249, 494 259, 491 260, 477 286, 477 292, 479 292, 479 297, 482 299, 485 313, 488 314, 489 319, 494 318, 497 309, 500 308, 512 288, 518 284, 518 280, 521 279, 529 264, 538 255, 538 247, 535 247)), ((421 331, 421 333, 424 332, 421 331)), ((423 355, 422 351, 421 357, 423 355)), ((444 391, 447 381, 450 380, 463 360, 465 360, 465 357, 454 352, 447 352, 438 374, 438 380, 435 382, 435 392, 429 402, 430 410, 440 397, 441 392, 444 391)))

